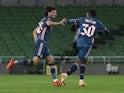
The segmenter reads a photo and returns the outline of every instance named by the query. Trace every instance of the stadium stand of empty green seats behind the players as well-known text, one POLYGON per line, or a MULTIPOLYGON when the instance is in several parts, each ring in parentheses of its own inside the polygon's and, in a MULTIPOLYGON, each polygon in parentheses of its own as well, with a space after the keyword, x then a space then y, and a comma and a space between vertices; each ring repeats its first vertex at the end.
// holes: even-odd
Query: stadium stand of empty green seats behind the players
MULTIPOLYGON (((97 49, 93 49, 90 55, 124 55, 123 6, 76 6, 76 8, 75 6, 57 6, 58 17, 56 20, 62 17, 85 16, 89 8, 95 8, 98 11, 98 19, 103 21, 113 35, 113 39, 97 36, 97 49), (98 44, 97 39, 100 40, 100 44, 98 44)), ((32 31, 42 18, 42 11, 43 7, 36 6, 0 7, 0 56, 32 57, 34 49, 32 31)), ((72 48, 74 33, 70 31, 70 27, 70 25, 66 25, 53 28, 49 40, 49 48, 53 55, 74 55, 72 48)))

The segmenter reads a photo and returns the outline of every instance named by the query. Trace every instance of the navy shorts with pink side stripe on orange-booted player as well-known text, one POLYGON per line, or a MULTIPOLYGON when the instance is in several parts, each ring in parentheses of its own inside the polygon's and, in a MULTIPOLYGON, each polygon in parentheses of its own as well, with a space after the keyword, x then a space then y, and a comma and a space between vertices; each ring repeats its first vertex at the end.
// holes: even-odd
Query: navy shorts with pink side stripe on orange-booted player
POLYGON ((50 50, 48 49, 47 45, 45 45, 44 43, 37 43, 35 45, 35 52, 33 54, 33 56, 38 56, 39 58, 46 58, 47 56, 50 56, 50 50))

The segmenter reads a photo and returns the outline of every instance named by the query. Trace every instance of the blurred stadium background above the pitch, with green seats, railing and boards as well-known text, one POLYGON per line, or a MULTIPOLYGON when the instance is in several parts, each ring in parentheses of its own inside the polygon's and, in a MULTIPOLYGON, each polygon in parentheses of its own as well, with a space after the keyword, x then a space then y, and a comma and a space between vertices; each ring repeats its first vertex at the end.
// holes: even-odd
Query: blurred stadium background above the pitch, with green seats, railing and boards
MULTIPOLYGON (((5 70, 10 58, 32 58, 32 31, 42 18, 46 5, 56 6, 58 17, 55 21, 63 17, 79 18, 85 16, 88 9, 96 9, 97 18, 112 34, 96 36, 86 73, 124 74, 124 0, 0 0, 1 74, 46 74, 48 71, 45 60, 41 60, 38 67, 17 65, 10 71, 5 70)), ((53 27, 49 39, 58 73, 65 71, 76 58, 73 48, 75 32, 70 28, 70 25, 53 27)))

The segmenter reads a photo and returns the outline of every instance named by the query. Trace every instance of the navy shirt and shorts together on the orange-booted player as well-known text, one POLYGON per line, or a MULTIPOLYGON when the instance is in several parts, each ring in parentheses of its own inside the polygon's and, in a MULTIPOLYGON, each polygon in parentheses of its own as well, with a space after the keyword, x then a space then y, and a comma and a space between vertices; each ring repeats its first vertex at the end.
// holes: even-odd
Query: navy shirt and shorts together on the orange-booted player
POLYGON ((44 17, 37 26, 37 40, 35 42, 35 52, 33 56, 38 56, 39 58, 46 58, 51 55, 50 50, 47 47, 51 26, 46 25, 47 21, 51 21, 51 18, 44 17))

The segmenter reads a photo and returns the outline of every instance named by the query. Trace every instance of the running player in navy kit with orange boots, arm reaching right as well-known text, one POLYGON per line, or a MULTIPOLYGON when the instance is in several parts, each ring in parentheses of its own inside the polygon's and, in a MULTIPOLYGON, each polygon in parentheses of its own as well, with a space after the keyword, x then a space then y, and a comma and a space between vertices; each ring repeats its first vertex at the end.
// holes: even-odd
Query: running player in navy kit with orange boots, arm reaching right
POLYGON ((51 32, 52 26, 64 25, 66 19, 63 18, 60 22, 52 22, 52 20, 57 16, 57 10, 54 7, 48 6, 44 12, 45 17, 39 22, 36 29, 33 31, 34 41, 35 41, 35 52, 33 54, 33 60, 15 60, 11 59, 7 65, 7 70, 14 66, 14 64, 23 65, 38 65, 40 59, 46 59, 49 63, 53 85, 60 86, 61 82, 56 78, 55 75, 55 62, 52 57, 50 50, 48 49, 48 38, 51 32))

